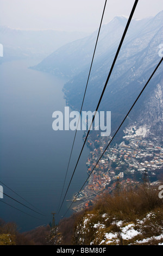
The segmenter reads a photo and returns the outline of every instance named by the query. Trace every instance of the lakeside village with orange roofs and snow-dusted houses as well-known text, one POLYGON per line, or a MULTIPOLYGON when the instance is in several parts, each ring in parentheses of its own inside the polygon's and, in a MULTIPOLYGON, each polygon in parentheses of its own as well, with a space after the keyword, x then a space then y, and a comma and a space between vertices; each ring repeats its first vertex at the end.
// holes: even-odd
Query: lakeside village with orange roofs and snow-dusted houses
POLYGON ((95 142, 90 138, 87 141, 91 149, 94 147, 86 162, 89 180, 84 189, 74 195, 74 211, 88 208, 99 194, 106 190, 112 193, 117 185, 121 188, 136 186, 145 178, 148 182, 156 181, 163 166, 163 148, 160 141, 147 140, 141 136, 126 137, 120 144, 106 149, 97 164, 108 144, 103 137, 98 137, 97 135, 95 142))

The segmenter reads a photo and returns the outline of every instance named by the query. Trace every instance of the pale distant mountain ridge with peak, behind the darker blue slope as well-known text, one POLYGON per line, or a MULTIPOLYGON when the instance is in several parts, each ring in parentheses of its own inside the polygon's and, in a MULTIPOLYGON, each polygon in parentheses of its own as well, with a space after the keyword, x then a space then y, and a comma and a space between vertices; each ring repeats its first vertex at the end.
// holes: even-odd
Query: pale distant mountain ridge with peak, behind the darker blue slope
MULTIPOLYGON (((133 33, 133 27, 138 33, 142 25, 146 24, 149 19, 142 21, 133 21, 130 36, 133 33)), ((96 50, 96 60, 102 58, 106 53, 112 52, 119 44, 124 28, 126 26, 127 19, 123 16, 115 17, 107 25, 102 26, 101 34, 98 40, 98 46, 96 50)), ((57 51, 53 52, 50 56, 43 59, 41 63, 34 66, 36 70, 45 72, 51 72, 52 74, 59 76, 73 77, 79 74, 84 68, 88 68, 91 63, 93 50, 97 39, 98 31, 92 33, 90 36, 82 40, 76 40, 70 44, 60 47, 57 51)), ((128 38, 129 36, 127 36, 128 38)), ((87 73, 86 73, 87 75, 87 73)))

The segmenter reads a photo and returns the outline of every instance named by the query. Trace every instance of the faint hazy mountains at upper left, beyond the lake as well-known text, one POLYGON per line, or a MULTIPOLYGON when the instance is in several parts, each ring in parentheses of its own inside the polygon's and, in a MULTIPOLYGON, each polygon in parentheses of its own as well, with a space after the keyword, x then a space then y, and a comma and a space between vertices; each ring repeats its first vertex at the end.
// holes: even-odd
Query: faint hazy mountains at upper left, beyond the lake
MULTIPOLYGON (((58 47, 81 39, 87 33, 53 30, 22 31, 0 26, 0 43, 4 46, 4 60, 27 57, 45 58, 58 47)), ((2 59, 1 59, 2 61, 2 59)))

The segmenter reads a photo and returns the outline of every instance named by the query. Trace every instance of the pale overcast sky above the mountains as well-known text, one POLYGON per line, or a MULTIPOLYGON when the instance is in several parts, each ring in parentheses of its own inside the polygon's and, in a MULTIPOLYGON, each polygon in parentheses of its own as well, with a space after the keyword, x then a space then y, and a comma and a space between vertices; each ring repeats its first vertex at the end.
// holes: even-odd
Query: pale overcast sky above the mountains
MULTIPOLYGON (((108 0, 104 23, 115 16, 129 16, 134 0, 108 0)), ((105 0, 0 0, 0 25, 18 29, 95 31, 105 0)), ((139 0, 134 18, 154 16, 163 9, 162 0, 139 0)))

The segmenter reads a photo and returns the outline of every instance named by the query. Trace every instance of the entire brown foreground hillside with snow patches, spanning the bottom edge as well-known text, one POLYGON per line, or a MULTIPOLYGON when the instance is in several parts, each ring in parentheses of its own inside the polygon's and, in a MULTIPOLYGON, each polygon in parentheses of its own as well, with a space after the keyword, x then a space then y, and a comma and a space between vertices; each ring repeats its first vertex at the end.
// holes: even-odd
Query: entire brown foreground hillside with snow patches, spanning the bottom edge
POLYGON ((15 223, 0 220, 0 245, 163 245, 163 204, 159 186, 105 191, 93 206, 49 225, 19 233, 15 223))

